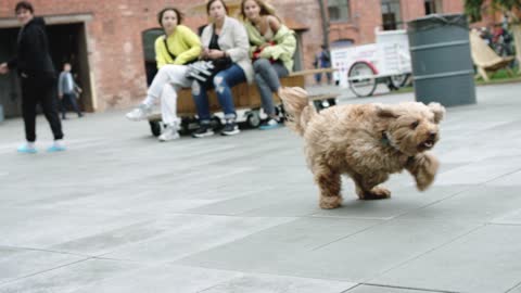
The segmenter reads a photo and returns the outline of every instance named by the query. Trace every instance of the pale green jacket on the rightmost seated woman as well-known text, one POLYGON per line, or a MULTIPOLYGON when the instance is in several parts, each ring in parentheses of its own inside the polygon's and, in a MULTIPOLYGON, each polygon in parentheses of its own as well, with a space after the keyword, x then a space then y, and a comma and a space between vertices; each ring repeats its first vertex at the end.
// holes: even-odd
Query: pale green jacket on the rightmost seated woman
MULTIPOLYGON (((245 22, 244 26, 250 39, 250 56, 252 56, 259 46, 267 43, 267 40, 250 22, 245 22)), ((293 54, 296 50, 295 31, 289 29, 285 25, 281 25, 274 36, 274 41, 276 44, 264 48, 260 58, 280 60, 288 72, 291 73, 293 71, 293 54)))

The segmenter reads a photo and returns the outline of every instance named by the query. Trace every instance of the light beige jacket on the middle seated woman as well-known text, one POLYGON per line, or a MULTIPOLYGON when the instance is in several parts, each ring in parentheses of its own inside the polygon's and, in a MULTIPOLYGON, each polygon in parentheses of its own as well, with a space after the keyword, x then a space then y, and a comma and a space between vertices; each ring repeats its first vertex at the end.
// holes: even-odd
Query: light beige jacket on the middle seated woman
MULTIPOLYGON (((203 47, 208 47, 212 40, 214 25, 209 24, 203 29, 201 34, 201 43, 203 47)), ((246 76, 247 82, 253 81, 253 67, 250 60, 250 42, 247 40, 246 29, 236 18, 226 16, 225 24, 219 35, 220 50, 225 51, 233 63, 237 63, 246 76)))

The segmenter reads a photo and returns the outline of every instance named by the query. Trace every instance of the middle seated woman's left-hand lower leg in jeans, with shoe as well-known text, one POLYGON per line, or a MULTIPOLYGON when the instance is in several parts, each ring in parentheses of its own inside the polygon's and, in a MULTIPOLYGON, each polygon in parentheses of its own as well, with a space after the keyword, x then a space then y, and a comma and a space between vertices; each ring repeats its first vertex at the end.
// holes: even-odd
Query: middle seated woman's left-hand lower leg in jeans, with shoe
POLYGON ((192 84, 192 98, 198 109, 200 127, 192 133, 194 138, 204 138, 214 135, 211 125, 209 102, 206 87, 199 81, 192 84))

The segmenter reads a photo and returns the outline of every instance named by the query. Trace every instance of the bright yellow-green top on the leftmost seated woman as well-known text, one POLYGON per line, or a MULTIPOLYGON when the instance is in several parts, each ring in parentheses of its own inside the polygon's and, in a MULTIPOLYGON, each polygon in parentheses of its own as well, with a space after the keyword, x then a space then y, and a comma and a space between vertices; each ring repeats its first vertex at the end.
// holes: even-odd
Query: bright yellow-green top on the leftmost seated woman
POLYGON ((168 49, 170 53, 176 56, 176 60, 173 60, 170 54, 168 54, 164 40, 165 36, 155 39, 155 61, 157 62, 157 68, 166 64, 182 65, 198 59, 201 54, 201 40, 199 40, 198 35, 187 26, 178 25, 174 34, 166 39, 168 49))

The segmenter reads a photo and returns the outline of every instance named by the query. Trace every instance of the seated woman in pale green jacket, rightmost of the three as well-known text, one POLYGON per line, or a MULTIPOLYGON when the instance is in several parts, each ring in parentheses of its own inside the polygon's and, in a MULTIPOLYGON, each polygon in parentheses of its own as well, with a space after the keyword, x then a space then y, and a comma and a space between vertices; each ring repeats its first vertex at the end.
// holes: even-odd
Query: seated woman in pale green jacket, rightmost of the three
POLYGON ((275 10, 263 0, 242 0, 241 16, 250 39, 255 81, 268 119, 260 129, 279 126, 272 94, 280 89, 280 77, 293 71, 295 33, 282 24, 275 10))

